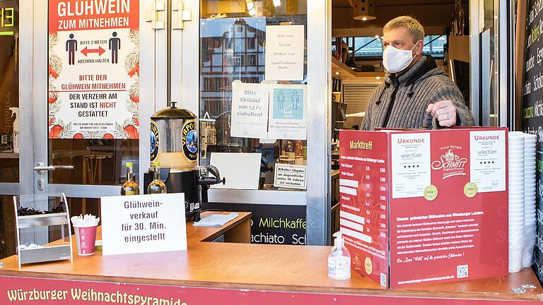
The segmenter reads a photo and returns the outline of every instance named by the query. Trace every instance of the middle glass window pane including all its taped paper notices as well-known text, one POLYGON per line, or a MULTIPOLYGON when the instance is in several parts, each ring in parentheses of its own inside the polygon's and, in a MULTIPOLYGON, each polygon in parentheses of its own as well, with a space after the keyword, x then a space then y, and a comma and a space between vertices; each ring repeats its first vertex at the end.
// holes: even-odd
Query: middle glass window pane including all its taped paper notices
POLYGON ((307 5, 200 1, 200 163, 227 189, 305 189, 307 5))

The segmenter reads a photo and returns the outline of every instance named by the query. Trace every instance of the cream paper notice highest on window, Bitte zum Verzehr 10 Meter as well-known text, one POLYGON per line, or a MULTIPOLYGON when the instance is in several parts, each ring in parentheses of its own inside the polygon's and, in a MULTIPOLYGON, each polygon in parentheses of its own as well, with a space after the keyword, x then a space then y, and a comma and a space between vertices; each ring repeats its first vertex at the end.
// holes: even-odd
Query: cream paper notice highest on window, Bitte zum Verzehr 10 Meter
POLYGON ((303 25, 266 27, 267 80, 303 80, 303 25))

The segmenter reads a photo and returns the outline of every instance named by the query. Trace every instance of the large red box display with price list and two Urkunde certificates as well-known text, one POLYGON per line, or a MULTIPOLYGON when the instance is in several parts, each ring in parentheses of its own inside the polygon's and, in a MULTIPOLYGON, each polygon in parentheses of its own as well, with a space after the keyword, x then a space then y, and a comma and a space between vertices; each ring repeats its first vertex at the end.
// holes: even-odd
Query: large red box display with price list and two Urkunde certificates
POLYGON ((505 128, 341 131, 339 143, 354 270, 383 287, 508 274, 505 128))

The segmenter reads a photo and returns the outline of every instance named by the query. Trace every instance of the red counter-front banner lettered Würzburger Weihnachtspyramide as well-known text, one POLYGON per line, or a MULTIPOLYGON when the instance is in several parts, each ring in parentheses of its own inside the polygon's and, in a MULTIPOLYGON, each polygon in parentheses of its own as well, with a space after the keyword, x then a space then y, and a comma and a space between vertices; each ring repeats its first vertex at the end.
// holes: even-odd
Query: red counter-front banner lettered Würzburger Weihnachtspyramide
MULTIPOLYGON (((264 272, 264 271, 263 271, 264 272)), ((0 276, 2 305, 494 305, 539 304, 535 301, 440 299, 391 295, 276 292, 250 289, 220 289, 164 285, 48 280, 33 277, 0 276)))

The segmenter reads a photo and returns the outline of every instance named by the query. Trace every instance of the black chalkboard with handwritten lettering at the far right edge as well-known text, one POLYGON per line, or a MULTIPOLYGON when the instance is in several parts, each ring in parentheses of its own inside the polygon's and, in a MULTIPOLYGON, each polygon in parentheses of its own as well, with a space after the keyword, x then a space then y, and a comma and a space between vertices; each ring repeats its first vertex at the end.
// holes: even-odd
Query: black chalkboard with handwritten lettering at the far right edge
POLYGON ((537 136, 537 243, 535 273, 543 281, 543 1, 530 0, 526 16, 522 130, 537 136))

